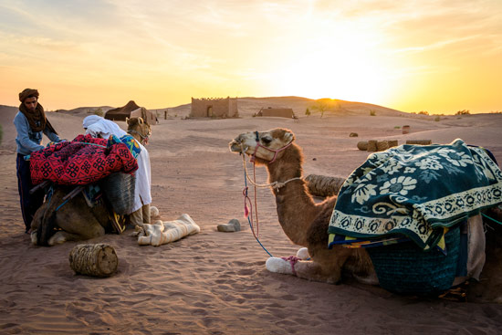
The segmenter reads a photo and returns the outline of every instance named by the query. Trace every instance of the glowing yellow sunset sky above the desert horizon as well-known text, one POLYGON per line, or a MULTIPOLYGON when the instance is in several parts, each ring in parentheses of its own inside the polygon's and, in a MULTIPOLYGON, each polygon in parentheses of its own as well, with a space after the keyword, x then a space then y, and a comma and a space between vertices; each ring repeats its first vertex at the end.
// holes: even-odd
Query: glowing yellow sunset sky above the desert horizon
POLYGON ((502 110, 502 0, 0 0, 0 104, 299 96, 502 110))

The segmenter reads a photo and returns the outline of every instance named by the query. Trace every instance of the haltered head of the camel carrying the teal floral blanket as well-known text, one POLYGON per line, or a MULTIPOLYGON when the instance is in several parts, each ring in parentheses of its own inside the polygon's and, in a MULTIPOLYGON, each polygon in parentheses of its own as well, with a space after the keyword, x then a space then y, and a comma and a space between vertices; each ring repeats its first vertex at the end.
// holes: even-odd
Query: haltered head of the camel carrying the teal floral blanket
POLYGON ((280 152, 295 140, 292 131, 275 128, 269 131, 249 131, 235 137, 228 145, 231 152, 246 153, 256 162, 275 162, 280 152))

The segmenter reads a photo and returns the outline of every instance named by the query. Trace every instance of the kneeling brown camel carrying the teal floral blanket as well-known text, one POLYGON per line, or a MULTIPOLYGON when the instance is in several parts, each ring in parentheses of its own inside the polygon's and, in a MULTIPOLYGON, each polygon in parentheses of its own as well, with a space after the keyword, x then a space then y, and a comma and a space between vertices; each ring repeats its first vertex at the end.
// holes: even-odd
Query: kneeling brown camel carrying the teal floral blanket
MULTIPOLYGON (((246 153, 256 164, 267 168, 268 183, 276 197, 278 222, 294 244, 308 248, 309 255, 302 248, 298 250, 298 256, 304 254, 301 258, 311 257, 309 261, 291 263, 270 257, 267 269, 330 284, 339 284, 343 275, 353 277, 363 284, 378 285, 378 277, 366 249, 327 247, 329 219, 337 197, 329 197, 321 203, 314 201, 309 194, 307 182, 302 178, 302 150, 294 140, 292 131, 273 129, 242 133, 229 143, 231 152, 246 153)), ((477 227, 478 235, 480 231, 482 233, 480 215, 471 217, 469 221, 477 227)), ((489 239, 486 240, 487 259, 484 267, 485 272, 487 269, 491 276, 482 286, 476 287, 475 295, 484 300, 502 302, 501 256, 490 257, 491 254, 499 254, 497 250, 502 246, 502 241, 498 237, 493 237, 492 240, 491 244, 489 239), (493 276, 494 273, 498 275, 493 276)), ((484 239, 482 245, 484 246, 484 239)))

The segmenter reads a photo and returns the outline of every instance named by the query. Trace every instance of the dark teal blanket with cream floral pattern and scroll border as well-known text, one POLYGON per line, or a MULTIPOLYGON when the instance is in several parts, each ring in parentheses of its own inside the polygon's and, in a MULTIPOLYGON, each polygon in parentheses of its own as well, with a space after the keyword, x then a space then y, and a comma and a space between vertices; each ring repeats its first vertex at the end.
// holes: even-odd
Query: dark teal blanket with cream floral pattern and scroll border
POLYGON ((483 148, 402 145, 372 153, 340 189, 329 234, 407 236, 424 250, 450 227, 502 203, 502 172, 483 148))

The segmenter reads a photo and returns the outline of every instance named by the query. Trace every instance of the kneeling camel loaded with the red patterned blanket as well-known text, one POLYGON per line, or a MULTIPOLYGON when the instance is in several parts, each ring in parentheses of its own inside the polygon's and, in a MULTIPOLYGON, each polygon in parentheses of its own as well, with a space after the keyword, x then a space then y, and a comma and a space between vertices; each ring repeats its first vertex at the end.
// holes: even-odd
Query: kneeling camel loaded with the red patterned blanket
MULTIPOLYGON (((152 134, 150 124, 141 118, 126 120, 128 132, 136 141, 146 142, 152 134)), ((116 219, 107 205, 100 201, 90 208, 84 195, 78 193, 65 203, 63 198, 71 186, 55 186, 52 196, 40 206, 31 224, 31 241, 35 245, 54 246, 66 241, 82 241, 105 235, 116 219)))

